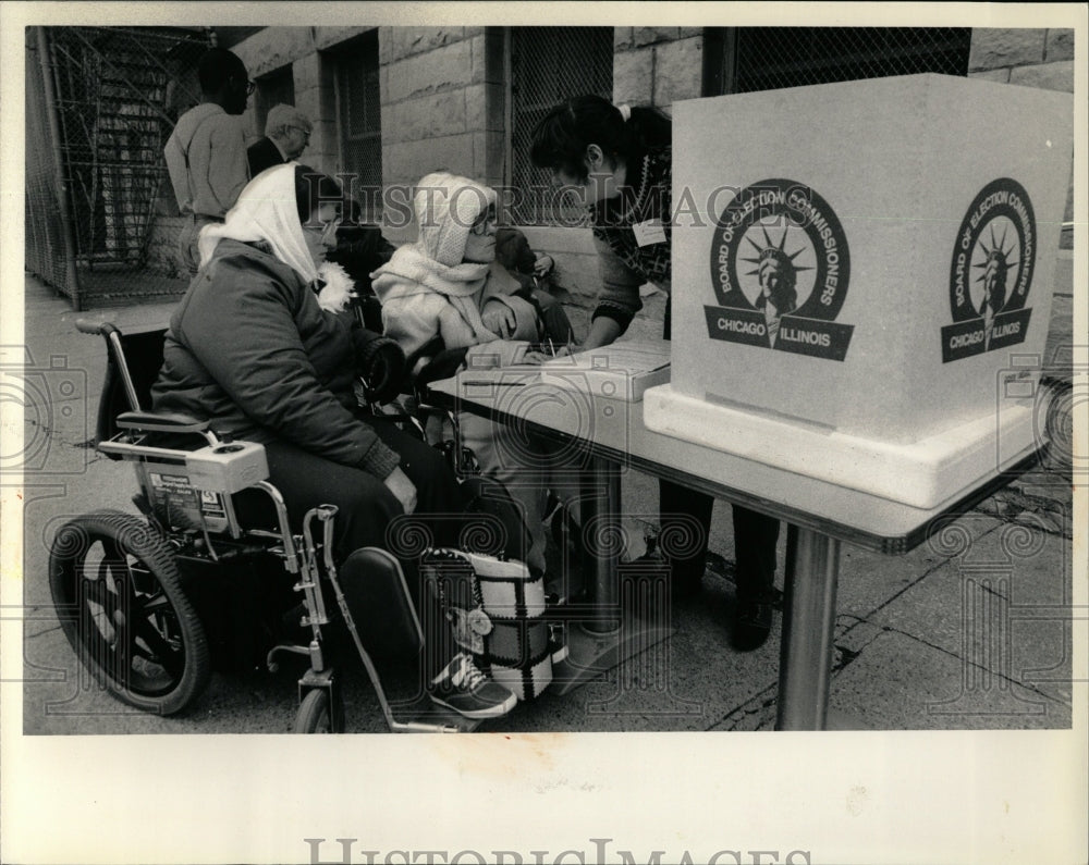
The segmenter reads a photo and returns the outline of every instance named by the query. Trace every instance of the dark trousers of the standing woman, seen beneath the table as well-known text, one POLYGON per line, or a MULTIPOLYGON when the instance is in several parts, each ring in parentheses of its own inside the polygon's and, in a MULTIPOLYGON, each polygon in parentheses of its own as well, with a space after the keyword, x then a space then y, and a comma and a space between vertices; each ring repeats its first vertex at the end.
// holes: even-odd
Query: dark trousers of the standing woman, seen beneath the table
MULTIPOLYGON (((665 339, 671 333, 671 307, 668 301, 662 333, 665 339)), ((658 496, 661 545, 670 561, 670 579, 678 588, 693 589, 707 566, 714 499, 670 481, 659 481, 658 496)), ((734 505, 733 521, 737 600, 769 600, 775 583, 779 520, 734 505)))

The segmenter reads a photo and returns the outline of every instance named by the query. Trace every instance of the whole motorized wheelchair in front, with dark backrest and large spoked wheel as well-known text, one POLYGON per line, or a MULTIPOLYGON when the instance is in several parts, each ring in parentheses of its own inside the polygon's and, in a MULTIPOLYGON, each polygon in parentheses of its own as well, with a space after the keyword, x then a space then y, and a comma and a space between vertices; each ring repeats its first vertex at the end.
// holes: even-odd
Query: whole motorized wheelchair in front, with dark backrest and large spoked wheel
POLYGON ((433 709, 424 720, 395 715, 376 657, 418 657, 424 630, 390 553, 366 547, 340 563, 341 572, 366 574, 353 581, 355 609, 366 617, 360 627, 333 560, 335 507, 313 508, 302 531, 292 531, 283 497, 268 481, 264 446, 147 410, 164 330, 123 334, 85 320, 76 326, 106 341, 97 448, 133 465, 142 516, 100 511, 69 520, 50 547, 49 583, 65 637, 113 696, 145 712, 180 714, 206 689, 213 664, 252 667, 264 657, 276 671, 281 656, 302 655, 309 667, 298 680, 294 732, 340 732, 343 696, 330 660, 335 623, 341 638, 347 632, 391 732, 478 726, 433 709), (242 523, 235 498, 244 491, 268 499, 273 524, 242 523))

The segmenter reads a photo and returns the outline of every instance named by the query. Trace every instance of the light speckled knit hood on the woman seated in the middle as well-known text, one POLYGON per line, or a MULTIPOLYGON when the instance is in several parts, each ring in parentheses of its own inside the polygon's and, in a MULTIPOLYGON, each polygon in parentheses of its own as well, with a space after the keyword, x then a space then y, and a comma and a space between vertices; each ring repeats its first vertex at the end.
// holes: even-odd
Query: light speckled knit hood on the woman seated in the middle
POLYGON ((469 228, 494 203, 495 190, 484 184, 441 171, 428 174, 413 198, 420 246, 442 264, 460 264, 469 228))

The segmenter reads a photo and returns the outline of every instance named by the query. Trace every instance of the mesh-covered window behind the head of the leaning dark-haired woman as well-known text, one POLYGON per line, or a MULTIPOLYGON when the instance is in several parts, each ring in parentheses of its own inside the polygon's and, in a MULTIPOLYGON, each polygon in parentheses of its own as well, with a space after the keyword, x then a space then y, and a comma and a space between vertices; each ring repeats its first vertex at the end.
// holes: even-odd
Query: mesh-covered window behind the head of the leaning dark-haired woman
POLYGON ((534 168, 529 147, 554 104, 579 94, 612 99, 612 27, 514 27, 511 30, 511 220, 521 225, 573 224, 583 213, 559 200, 551 174, 534 168))

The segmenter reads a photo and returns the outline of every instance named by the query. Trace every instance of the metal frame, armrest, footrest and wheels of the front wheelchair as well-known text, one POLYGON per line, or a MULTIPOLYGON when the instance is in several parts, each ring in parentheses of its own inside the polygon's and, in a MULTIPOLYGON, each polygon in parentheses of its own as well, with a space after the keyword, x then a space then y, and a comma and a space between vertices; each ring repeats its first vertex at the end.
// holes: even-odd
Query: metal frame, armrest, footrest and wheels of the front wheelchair
MULTIPOLYGON (((117 326, 86 320, 77 321, 76 326, 106 339, 109 366, 97 447, 113 459, 134 464, 140 486, 134 502, 144 515, 143 521, 118 511, 76 517, 58 531, 52 543, 49 578, 53 602, 65 635, 90 672, 125 703, 162 715, 184 712, 207 685, 210 660, 205 628, 187 597, 183 572, 192 564, 223 566, 272 556, 293 580, 293 591, 303 595, 306 614, 299 625, 310 629, 305 644, 278 642, 266 656, 270 671, 277 670, 277 657, 283 653, 309 660, 298 680, 295 732, 344 729, 343 700, 322 632, 331 621, 323 585, 332 591, 391 732, 475 729, 478 721, 458 717, 439 722, 395 717, 341 590, 332 554, 337 508, 325 505, 310 509, 303 519, 303 531, 293 533, 283 496, 268 481, 262 445, 221 437, 209 423, 189 417, 145 410, 138 385, 149 391, 158 366, 150 372, 145 370, 147 381, 138 383, 117 326), (111 410, 119 401, 113 390, 123 393, 129 406, 117 417, 111 410), (199 435, 205 446, 192 450, 160 447, 150 441, 157 433, 199 435), (240 524, 232 496, 250 489, 271 499, 276 531, 240 524), (185 518, 179 522, 188 524, 170 519, 178 499, 185 518), (311 528, 315 520, 321 526, 317 541, 311 528), (101 544, 102 557, 97 567, 89 567, 88 557, 97 544, 101 544)), ((423 629, 400 566, 384 551, 367 551, 377 557, 372 560, 395 567, 400 578, 395 590, 407 602, 415 644, 423 646, 423 629)))

